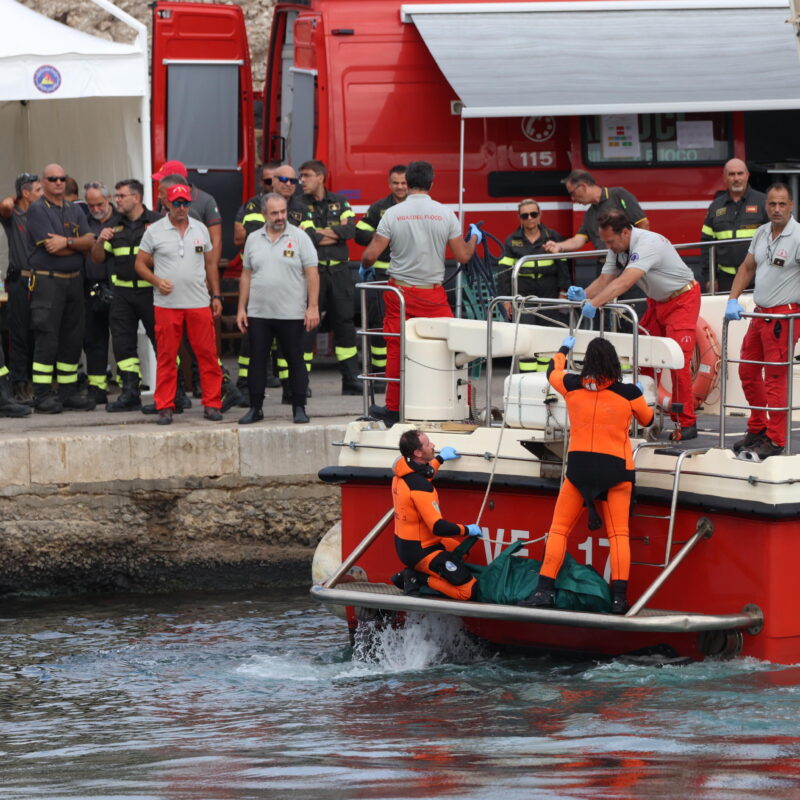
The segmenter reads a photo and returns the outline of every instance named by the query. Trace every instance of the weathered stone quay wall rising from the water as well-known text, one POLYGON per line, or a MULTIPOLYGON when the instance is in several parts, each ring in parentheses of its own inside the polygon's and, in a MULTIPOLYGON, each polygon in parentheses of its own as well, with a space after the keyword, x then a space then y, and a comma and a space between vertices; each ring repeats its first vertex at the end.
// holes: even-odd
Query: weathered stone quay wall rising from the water
POLYGON ((308 425, 279 405, 209 423, 197 401, 163 427, 105 410, 0 420, 0 593, 309 581, 339 517, 317 473, 360 405, 314 398, 308 425))

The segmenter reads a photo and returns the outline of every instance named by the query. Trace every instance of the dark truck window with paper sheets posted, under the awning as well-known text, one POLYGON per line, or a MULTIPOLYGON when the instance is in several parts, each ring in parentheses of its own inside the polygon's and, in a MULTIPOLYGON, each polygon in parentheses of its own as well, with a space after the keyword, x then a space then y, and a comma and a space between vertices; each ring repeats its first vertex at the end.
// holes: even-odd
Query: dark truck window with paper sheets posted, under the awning
POLYGON ((582 123, 588 167, 713 165, 733 155, 730 115, 723 112, 597 115, 582 123), (631 123, 638 128, 638 147, 630 142, 631 123))

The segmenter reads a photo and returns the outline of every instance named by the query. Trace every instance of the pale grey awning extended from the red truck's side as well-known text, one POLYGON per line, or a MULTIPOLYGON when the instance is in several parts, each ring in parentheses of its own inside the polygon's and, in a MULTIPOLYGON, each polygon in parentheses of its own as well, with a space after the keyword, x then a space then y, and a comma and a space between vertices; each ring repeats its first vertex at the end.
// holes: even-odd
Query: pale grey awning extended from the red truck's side
POLYGON ((788 0, 403 5, 464 117, 800 108, 788 0))

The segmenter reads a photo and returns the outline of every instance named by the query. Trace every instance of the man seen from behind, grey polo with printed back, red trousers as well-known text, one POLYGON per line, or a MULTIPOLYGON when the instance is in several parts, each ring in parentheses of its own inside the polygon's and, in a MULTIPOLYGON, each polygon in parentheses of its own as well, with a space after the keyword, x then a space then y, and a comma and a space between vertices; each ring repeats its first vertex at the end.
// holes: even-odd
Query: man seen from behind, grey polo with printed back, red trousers
MULTIPOLYGON (((427 161, 412 161, 406 169, 408 197, 386 211, 369 247, 361 257, 359 276, 369 280, 372 265, 387 248, 391 251, 389 283, 403 293, 406 319, 414 317, 452 317, 442 283, 447 248, 461 263, 472 258, 483 235, 470 226, 470 238, 464 241, 461 225, 447 206, 428 194, 433 185, 433 166, 427 161)), ((400 332, 400 303, 394 292, 386 292, 385 333, 400 332)), ((386 377, 400 377, 400 343, 396 336, 386 337, 386 377)), ((389 425, 399 420, 400 388, 396 382, 386 386, 386 406, 373 405, 370 414, 389 425)))

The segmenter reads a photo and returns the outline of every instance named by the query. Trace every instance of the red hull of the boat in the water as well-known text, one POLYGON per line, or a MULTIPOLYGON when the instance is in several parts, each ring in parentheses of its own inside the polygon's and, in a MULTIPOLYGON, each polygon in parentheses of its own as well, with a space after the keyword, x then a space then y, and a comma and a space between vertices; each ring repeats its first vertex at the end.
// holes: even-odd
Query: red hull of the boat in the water
MULTIPOLYGON (((391 502, 385 480, 351 479, 342 485, 342 552, 355 548, 391 502)), ((503 486, 495 480, 481 517, 488 541, 472 548, 469 560, 487 564, 512 541, 540 539, 547 530, 557 496, 557 483, 540 480, 535 486, 503 486)), ((476 519, 484 487, 469 481, 439 482, 446 519, 476 519)), ((669 503, 652 493, 640 493, 630 521, 632 568, 629 601, 634 602, 663 571, 667 555, 669 503)), ((763 612, 763 626, 717 631, 613 630, 580 624, 521 622, 515 619, 475 618, 469 604, 459 614, 475 635, 496 645, 561 652, 605 654, 637 651, 703 658, 742 655, 776 663, 800 661, 800 623, 794 613, 794 565, 800 563, 800 523, 794 517, 746 515, 714 507, 713 498, 682 503, 675 516, 670 559, 694 534, 698 520, 712 523, 709 538, 701 540, 648 601, 647 607, 680 609, 705 615, 731 615, 746 607, 763 612), (758 632, 754 632, 758 629, 758 632)), ((608 540, 602 530, 590 531, 586 516, 569 540, 569 551, 579 563, 589 564, 608 579, 608 540)), ((520 557, 541 560, 544 541, 520 550, 520 557)), ((389 583, 402 568, 394 548, 390 522, 357 561, 368 580, 389 583)), ((559 612, 554 612, 559 613, 559 612)), ((604 616, 604 615, 598 615, 604 616)), ((356 615, 349 615, 355 624, 356 615)))

